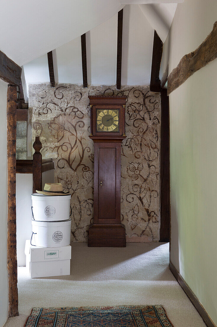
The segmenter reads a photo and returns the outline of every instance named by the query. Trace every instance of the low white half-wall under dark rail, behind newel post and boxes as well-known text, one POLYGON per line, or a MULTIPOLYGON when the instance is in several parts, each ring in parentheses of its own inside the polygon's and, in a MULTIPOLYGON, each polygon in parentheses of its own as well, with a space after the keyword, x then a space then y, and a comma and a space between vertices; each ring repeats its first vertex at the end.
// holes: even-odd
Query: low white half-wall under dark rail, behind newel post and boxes
MULTIPOLYGON (((42 173, 45 183, 54 183, 54 169, 42 173)), ((16 174, 17 265, 26 265, 25 242, 32 236, 32 174, 16 174)))

